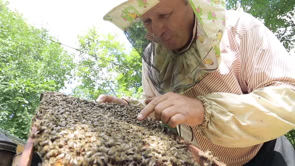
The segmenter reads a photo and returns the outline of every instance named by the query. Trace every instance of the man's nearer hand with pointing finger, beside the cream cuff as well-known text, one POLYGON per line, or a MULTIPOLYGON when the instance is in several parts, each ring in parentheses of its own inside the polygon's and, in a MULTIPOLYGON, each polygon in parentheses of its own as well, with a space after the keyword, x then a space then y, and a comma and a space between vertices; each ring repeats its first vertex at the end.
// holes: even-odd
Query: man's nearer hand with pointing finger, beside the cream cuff
POLYGON ((204 107, 200 100, 181 94, 168 92, 155 98, 145 99, 147 104, 138 114, 137 119, 143 120, 154 111, 156 120, 176 127, 178 124, 195 126, 204 119, 204 107))

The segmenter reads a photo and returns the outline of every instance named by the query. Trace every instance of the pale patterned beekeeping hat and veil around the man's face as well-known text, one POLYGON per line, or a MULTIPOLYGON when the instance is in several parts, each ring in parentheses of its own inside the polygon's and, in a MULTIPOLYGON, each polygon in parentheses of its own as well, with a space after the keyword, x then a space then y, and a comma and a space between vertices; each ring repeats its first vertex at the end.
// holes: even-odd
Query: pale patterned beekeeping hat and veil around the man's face
POLYGON ((225 28, 225 2, 188 0, 196 20, 195 39, 187 50, 176 53, 157 43, 139 19, 159 1, 127 0, 110 10, 103 19, 125 32, 128 40, 142 55, 143 68, 159 93, 182 93, 220 64, 219 43, 225 28))

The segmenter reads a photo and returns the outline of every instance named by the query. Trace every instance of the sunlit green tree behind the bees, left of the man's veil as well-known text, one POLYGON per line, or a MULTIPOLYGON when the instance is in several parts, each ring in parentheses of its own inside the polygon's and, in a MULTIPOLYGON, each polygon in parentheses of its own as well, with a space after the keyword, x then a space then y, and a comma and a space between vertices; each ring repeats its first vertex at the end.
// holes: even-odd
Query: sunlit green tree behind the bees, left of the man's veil
POLYGON ((100 35, 95 28, 79 36, 79 44, 82 52, 76 75, 80 84, 73 90, 75 95, 88 99, 99 94, 140 96, 141 56, 134 49, 125 53, 116 36, 100 35))

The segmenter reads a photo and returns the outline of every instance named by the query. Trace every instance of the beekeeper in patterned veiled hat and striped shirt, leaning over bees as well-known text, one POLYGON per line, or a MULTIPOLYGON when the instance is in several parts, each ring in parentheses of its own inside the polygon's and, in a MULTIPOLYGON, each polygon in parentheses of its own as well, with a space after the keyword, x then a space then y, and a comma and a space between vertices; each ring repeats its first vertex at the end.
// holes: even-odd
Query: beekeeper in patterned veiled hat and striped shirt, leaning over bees
POLYGON ((98 102, 132 103, 228 165, 295 165, 295 59, 259 20, 224 0, 127 0, 104 20, 142 55, 144 93, 98 102))

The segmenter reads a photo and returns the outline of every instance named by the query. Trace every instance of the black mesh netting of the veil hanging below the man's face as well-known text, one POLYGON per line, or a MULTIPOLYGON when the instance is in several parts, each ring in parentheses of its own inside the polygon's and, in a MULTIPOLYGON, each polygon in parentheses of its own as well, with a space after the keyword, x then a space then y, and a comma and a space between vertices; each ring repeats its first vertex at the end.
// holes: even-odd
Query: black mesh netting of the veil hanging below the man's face
MULTIPOLYGON (((148 78, 160 94, 169 91, 181 93, 199 82, 204 73, 216 69, 206 69, 203 63, 204 58, 200 58, 197 49, 194 49, 195 53, 185 57, 181 57, 184 56, 181 53, 177 54, 173 51, 167 51, 165 62, 168 61, 169 64, 166 68, 163 68, 160 64, 156 65, 155 52, 157 43, 147 40, 144 37, 146 33, 147 31, 139 19, 125 30, 127 39, 142 56, 144 61, 142 65, 144 65, 143 68, 148 78), (187 64, 187 62, 195 63, 187 64), (163 72, 166 70, 167 72, 163 72)), ((213 49, 209 51, 213 51, 213 49)), ((157 56, 157 58, 161 57, 157 56)))

